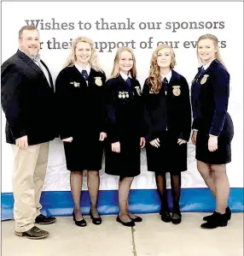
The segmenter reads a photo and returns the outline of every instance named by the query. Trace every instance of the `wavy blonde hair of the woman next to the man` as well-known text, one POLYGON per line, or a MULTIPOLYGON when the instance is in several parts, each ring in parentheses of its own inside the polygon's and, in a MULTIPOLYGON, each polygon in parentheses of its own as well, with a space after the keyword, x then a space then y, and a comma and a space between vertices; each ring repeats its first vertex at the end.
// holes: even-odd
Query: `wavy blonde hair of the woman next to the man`
POLYGON ((67 57, 67 61, 64 64, 64 67, 73 66, 76 63, 77 57, 75 55, 75 50, 76 50, 78 43, 90 44, 90 48, 91 48, 91 57, 90 57, 90 61, 89 61, 90 66, 91 66, 91 68, 94 68, 96 71, 103 72, 102 68, 100 67, 100 65, 98 63, 98 56, 96 54, 96 49, 95 49, 94 43, 91 39, 86 38, 86 37, 78 37, 77 39, 73 40, 73 44, 70 49, 69 55, 67 57))

